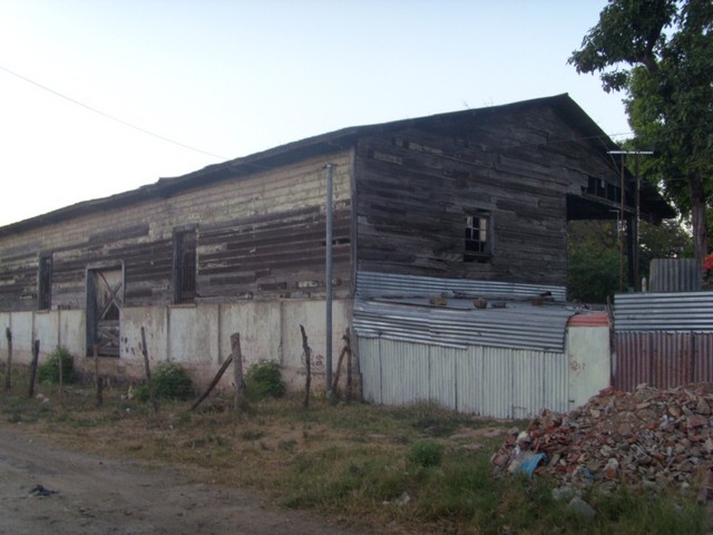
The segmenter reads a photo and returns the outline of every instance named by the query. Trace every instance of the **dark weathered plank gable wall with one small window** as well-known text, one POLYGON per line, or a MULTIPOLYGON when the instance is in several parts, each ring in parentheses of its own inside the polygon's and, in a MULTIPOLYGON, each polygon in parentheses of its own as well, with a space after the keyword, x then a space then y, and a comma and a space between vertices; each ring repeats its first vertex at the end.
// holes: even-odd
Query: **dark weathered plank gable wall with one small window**
POLYGON ((360 142, 358 269, 565 285, 567 194, 592 173, 615 179, 611 163, 551 110, 448 129, 360 142), (491 217, 486 263, 463 262, 465 215, 476 210, 491 217))

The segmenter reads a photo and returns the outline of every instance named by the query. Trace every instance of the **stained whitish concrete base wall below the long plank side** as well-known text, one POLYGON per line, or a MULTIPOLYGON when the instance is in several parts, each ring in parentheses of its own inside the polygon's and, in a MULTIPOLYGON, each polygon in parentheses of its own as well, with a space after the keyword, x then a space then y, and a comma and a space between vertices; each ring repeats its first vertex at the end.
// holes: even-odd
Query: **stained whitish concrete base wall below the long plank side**
MULTIPOLYGON (((336 370, 342 335, 351 325, 352 303, 334 301, 332 310, 332 368, 336 370)), ((140 307, 121 310, 119 358, 99 359, 101 373, 128 380, 145 374, 141 327, 152 367, 170 360, 183 364, 198 388, 205 388, 231 354, 231 334, 241 334, 244 370, 260 361, 282 364, 289 390, 304 387, 304 351, 300 325, 304 325, 312 349, 312 389, 325 389, 325 303, 323 301, 240 302, 195 307, 140 307)), ((82 310, 0 313, 0 360, 7 358, 6 328, 12 335, 12 359, 29 364, 33 340, 40 340, 40 362, 57 346, 75 356, 75 367, 94 372, 91 348, 86 347, 86 315, 82 310)), ((356 367, 353 359, 353 367, 356 367)), ((342 377, 345 370, 342 370, 342 377)), ((233 386, 233 374, 223 376, 219 388, 233 386)))

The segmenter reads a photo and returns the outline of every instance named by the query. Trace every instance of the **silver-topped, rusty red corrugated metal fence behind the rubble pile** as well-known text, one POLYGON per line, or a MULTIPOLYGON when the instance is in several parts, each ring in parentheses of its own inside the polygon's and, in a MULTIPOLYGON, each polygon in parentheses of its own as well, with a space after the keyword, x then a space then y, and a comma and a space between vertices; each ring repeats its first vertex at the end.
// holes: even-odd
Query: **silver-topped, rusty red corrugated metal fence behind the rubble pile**
POLYGON ((613 386, 713 381, 713 292, 616 295, 613 386))

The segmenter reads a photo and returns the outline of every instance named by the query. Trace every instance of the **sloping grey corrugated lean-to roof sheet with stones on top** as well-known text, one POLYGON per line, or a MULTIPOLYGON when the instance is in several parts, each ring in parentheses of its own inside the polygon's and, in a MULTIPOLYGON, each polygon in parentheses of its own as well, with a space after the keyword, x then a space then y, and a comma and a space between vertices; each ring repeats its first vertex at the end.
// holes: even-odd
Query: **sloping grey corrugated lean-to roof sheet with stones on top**
POLYGON ((363 300, 354 303, 353 327, 359 337, 387 338, 466 348, 539 349, 563 351, 565 331, 576 310, 508 303, 507 308, 476 309, 467 300, 450 299, 446 307, 428 300, 363 300))

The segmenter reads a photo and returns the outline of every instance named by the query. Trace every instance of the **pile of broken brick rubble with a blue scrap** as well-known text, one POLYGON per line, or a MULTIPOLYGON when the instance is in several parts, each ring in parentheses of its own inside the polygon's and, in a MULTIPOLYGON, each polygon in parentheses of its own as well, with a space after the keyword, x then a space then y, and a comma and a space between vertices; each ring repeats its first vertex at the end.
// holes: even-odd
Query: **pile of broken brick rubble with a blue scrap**
MULTIPOLYGON (((497 474, 546 474, 563 485, 712 485, 713 385, 602 390, 569 414, 543 411, 492 456, 497 474), (543 455, 544 454, 544 455, 543 455)), ((709 489, 711 492, 713 489, 709 489)), ((705 496, 710 498, 710 496, 705 496)))

